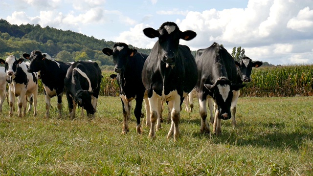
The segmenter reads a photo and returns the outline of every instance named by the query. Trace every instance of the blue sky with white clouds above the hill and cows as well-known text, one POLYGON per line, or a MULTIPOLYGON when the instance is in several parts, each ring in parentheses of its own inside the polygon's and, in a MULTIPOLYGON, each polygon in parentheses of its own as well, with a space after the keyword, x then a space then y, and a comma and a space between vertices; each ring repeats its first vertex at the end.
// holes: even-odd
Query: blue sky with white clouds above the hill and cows
MULTIPOLYGON (((191 50, 241 46, 253 61, 313 64, 313 0, 0 0, 0 19, 152 48, 146 27, 193 30, 191 50)), ((36 49, 36 48, 34 48, 36 49)), ((43 51, 44 52, 44 51, 43 51)))

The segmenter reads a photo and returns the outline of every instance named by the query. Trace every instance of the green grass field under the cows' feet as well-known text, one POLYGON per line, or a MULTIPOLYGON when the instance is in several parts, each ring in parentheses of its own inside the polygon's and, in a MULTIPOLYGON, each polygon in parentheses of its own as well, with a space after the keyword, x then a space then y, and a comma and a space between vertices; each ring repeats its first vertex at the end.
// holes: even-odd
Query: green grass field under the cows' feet
MULTIPOLYGON (((63 112, 67 113, 64 96, 63 112)), ((119 97, 100 97, 96 117, 57 119, 56 98, 45 119, 44 96, 38 116, 0 114, 0 175, 134 176, 312 176, 313 97, 240 98, 238 127, 222 121, 222 135, 200 134, 199 106, 180 114, 178 141, 167 140, 162 123, 156 140, 135 130, 123 135, 119 97)), ((133 103, 134 106, 134 103, 133 103)), ((78 110, 80 111, 80 110, 78 110)), ((144 110, 143 110, 144 111, 144 110)), ((167 109, 163 116, 166 116, 167 109)), ((212 132, 212 125, 210 125, 212 132)))

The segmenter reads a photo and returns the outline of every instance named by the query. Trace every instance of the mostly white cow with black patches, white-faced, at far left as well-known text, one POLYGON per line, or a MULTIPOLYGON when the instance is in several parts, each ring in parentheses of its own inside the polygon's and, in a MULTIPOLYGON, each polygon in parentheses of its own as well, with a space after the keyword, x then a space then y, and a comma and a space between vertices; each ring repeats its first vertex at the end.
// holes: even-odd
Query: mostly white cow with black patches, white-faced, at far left
POLYGON ((18 97, 18 117, 25 116, 26 112, 26 96, 29 98, 29 108, 31 110, 32 103, 34 103, 34 116, 37 115, 37 93, 38 93, 38 76, 36 72, 27 72, 27 66, 23 62, 24 59, 16 59, 15 56, 10 55, 4 61, 0 59, 0 63, 4 64, 6 74, 8 76, 7 82, 9 85, 9 99, 10 111, 9 116, 13 114, 15 97, 18 97), (23 111, 22 111, 23 107, 23 111))

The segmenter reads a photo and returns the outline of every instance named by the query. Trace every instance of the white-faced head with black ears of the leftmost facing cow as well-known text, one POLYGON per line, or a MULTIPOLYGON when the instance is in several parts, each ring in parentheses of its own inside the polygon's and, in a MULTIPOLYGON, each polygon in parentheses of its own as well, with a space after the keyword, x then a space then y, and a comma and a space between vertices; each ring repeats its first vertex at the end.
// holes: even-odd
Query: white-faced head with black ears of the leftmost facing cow
POLYGON ((23 61, 23 58, 17 60, 16 57, 13 55, 8 56, 5 61, 3 59, 0 59, 0 63, 4 64, 4 71, 6 71, 6 74, 10 77, 15 75, 19 64, 21 64, 23 61))

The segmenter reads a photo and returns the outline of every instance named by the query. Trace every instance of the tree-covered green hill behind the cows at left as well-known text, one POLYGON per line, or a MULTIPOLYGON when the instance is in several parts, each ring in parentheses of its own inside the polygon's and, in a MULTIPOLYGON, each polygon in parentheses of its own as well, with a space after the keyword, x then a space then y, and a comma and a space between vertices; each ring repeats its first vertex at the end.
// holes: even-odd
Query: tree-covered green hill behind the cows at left
MULTIPOLYGON (((10 54, 22 57, 22 53, 39 49, 59 61, 92 60, 106 69, 108 66, 113 66, 112 56, 103 54, 101 50, 104 47, 112 48, 114 43, 115 41, 98 40, 70 30, 42 27, 39 24, 15 25, 0 19, 0 58, 2 59, 6 59, 10 54)), ((151 51, 136 49, 147 54, 151 51)))

